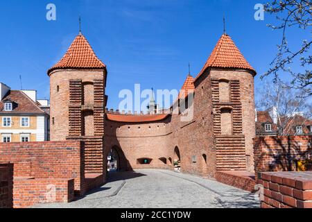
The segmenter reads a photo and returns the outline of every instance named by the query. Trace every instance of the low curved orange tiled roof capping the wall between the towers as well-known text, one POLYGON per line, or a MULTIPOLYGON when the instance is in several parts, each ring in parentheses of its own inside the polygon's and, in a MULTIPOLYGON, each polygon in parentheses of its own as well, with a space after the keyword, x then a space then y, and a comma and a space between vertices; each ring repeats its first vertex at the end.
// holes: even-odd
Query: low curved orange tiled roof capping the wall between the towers
POLYGON ((161 121, 166 119, 168 114, 155 114, 155 115, 122 115, 122 114, 109 114, 107 119, 110 121, 123 122, 123 123, 145 123, 161 121))

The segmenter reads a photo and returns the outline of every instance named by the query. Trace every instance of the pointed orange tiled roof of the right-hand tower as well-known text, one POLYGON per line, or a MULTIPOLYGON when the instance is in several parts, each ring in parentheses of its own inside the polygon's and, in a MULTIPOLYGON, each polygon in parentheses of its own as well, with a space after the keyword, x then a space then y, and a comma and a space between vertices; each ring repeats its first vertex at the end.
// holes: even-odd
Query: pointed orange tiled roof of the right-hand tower
MULTIPOLYGON (((216 44, 214 51, 212 51, 205 66, 198 74, 199 78, 208 67, 214 68, 236 68, 236 69, 248 69, 254 71, 254 68, 247 62, 243 54, 229 35, 223 34, 220 40, 216 44)), ((196 79, 197 79, 196 78, 196 79)))

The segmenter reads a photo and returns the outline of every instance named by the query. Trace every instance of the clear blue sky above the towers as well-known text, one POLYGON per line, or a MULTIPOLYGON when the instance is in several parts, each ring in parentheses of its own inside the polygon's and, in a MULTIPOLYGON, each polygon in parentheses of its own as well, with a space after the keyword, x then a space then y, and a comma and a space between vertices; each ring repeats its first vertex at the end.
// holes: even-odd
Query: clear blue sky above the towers
MULTIPOLYGON (((180 89, 188 63, 196 76, 220 35, 223 15, 232 37, 259 76, 274 58, 281 33, 254 19, 253 0, 80 0, 0 2, 0 82, 19 89, 37 89, 40 99, 49 99, 46 71, 82 30, 96 55, 107 65, 107 108, 117 108, 121 89, 180 89), (46 5, 55 3, 56 21, 46 20, 46 5)), ((288 41, 298 46, 308 37, 298 29, 288 41), (294 43, 295 42, 295 43, 294 43)), ((270 80, 270 79, 268 79, 270 80)))

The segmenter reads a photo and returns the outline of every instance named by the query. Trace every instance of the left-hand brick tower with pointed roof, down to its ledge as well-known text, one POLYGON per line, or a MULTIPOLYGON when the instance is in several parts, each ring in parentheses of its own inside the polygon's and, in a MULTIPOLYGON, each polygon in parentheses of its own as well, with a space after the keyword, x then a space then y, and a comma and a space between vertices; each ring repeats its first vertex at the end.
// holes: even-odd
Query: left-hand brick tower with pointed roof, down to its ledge
POLYGON ((48 75, 51 140, 103 136, 107 70, 81 33, 48 75))

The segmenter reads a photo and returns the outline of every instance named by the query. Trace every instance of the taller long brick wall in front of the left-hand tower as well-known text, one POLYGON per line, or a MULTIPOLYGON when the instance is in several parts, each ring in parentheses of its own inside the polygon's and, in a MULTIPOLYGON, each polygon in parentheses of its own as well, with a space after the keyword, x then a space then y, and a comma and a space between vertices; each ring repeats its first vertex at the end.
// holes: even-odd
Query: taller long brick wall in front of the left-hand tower
POLYGON ((83 189, 84 147, 80 141, 0 143, 0 162, 17 164, 15 176, 73 178, 75 190, 83 189))

